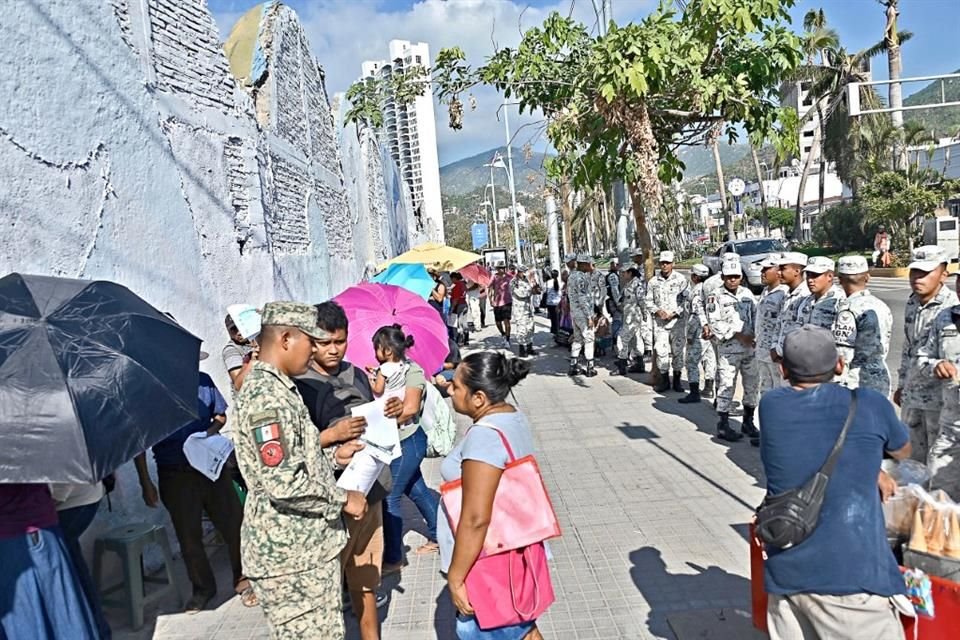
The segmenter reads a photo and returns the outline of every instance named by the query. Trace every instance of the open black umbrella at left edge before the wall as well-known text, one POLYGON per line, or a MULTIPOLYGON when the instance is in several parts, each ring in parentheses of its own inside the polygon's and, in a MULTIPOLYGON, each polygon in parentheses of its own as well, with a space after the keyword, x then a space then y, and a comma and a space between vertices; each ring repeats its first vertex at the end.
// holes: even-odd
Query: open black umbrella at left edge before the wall
POLYGON ((113 282, 0 278, 0 483, 95 482, 196 419, 199 352, 113 282))

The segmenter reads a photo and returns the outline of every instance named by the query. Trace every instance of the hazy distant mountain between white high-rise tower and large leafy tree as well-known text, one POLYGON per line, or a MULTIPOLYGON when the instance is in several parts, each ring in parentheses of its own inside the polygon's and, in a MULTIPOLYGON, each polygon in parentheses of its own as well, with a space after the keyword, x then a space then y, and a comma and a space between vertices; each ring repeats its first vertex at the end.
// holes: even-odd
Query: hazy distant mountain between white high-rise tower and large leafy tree
MULTIPOLYGON (((483 165, 493 160, 494 154, 498 151, 504 156, 504 162, 506 162, 506 149, 498 147, 440 167, 440 193, 463 195, 490 184, 490 167, 483 165)), ((526 158, 520 147, 513 147, 511 154, 517 191, 539 195, 543 191, 545 182, 544 161, 551 156, 534 151, 529 158, 526 158)), ((493 179, 498 185, 507 184, 506 171, 494 169, 493 172, 493 179)))

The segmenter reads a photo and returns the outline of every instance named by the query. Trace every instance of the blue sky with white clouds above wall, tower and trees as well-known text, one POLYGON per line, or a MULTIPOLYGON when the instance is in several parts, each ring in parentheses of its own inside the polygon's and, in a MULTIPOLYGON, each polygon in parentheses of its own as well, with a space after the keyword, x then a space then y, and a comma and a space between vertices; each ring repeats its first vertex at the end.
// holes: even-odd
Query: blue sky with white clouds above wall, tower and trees
MULTIPOLYGON (((236 19, 255 3, 242 0, 208 0, 222 37, 236 19)), ((431 53, 462 46, 471 62, 482 62, 492 52, 491 38, 500 46, 519 41, 519 27, 542 22, 552 10, 569 11, 570 0, 287 0, 300 15, 314 53, 327 73, 327 90, 345 91, 357 79, 364 60, 387 55, 390 39, 424 41, 431 53), (526 8, 526 10, 525 10, 526 8), (522 16, 522 17, 521 17, 522 16)), ((960 68, 960 0, 901 0, 899 26, 914 32, 903 47, 903 75, 927 76, 960 68)), ((645 16, 654 0, 613 0, 614 17, 629 22, 645 16)), ((802 28, 809 9, 823 7, 827 20, 850 51, 870 46, 883 36, 884 9, 876 0, 799 0, 791 11, 794 25, 802 28)), ((577 0, 574 15, 594 22, 590 0, 577 0)), ((887 77, 886 58, 873 60, 875 79, 887 77)), ((904 86, 904 95, 923 88, 904 86)), ((885 93, 881 89, 881 93, 885 93)), ((462 131, 447 127, 445 109, 437 109, 437 140, 441 165, 504 144, 503 124, 497 120, 499 99, 488 89, 477 91, 479 107, 467 113, 462 131)), ((511 126, 527 125, 515 144, 532 142, 542 147, 537 118, 511 113, 511 126)))

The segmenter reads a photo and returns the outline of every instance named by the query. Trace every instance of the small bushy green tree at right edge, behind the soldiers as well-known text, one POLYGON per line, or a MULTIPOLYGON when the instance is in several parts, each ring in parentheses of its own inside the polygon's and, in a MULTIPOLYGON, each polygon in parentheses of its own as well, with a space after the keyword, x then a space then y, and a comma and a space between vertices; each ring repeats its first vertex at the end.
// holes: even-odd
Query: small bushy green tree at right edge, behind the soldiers
POLYGON ((894 241, 912 252, 920 223, 958 187, 931 171, 883 171, 863 185, 860 200, 866 220, 887 225, 894 241))

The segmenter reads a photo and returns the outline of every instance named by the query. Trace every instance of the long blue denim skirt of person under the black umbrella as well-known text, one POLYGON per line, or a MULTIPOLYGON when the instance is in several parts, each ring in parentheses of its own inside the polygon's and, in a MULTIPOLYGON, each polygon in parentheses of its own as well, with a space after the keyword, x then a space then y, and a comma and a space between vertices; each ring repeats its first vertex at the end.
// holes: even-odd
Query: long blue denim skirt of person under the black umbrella
POLYGON ((0 539, 0 640, 96 640, 59 526, 0 539))

